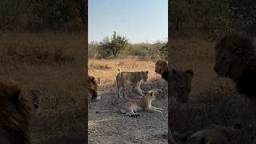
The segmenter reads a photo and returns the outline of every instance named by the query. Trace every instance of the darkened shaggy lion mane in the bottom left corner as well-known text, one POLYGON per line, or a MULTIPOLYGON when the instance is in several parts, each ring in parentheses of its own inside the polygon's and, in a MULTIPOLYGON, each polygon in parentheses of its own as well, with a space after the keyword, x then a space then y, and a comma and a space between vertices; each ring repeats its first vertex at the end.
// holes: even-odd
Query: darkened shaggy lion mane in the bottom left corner
POLYGON ((24 98, 25 94, 25 87, 18 82, 0 82, 0 143, 30 143, 28 130, 32 106, 24 98))

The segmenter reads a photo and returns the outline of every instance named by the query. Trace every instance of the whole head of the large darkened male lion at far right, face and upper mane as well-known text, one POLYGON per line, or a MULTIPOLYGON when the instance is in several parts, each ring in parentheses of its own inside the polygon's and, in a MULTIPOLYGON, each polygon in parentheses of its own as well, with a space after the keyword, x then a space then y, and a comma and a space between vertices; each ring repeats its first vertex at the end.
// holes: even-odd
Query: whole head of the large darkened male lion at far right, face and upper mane
POLYGON ((214 71, 218 76, 237 81, 243 70, 250 68, 250 63, 253 62, 254 46, 250 38, 227 35, 215 46, 214 71))

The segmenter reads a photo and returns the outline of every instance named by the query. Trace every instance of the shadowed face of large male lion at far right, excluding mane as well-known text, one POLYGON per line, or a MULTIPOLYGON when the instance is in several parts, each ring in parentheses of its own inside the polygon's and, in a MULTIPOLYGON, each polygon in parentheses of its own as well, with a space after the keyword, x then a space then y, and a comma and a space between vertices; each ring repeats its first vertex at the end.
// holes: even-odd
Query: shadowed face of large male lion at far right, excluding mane
POLYGON ((229 50, 216 50, 215 53, 215 65, 214 71, 220 77, 230 76, 231 64, 232 64, 232 54, 229 50))

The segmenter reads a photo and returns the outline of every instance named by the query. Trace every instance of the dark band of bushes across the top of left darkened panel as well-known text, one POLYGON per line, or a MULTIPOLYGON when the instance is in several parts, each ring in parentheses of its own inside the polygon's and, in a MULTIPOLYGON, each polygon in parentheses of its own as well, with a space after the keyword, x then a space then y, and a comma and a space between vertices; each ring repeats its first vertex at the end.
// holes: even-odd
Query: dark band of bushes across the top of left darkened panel
POLYGON ((85 16, 84 0, 0 1, 0 30, 81 30, 85 16))

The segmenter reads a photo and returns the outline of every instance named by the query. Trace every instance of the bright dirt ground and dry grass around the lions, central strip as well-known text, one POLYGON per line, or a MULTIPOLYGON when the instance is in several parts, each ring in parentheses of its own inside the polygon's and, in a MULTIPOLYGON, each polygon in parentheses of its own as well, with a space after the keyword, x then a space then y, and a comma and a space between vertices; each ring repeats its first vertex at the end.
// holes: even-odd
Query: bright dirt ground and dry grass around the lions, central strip
MULTIPOLYGON (((122 71, 148 70, 149 78, 142 84, 142 90, 155 88, 167 88, 161 76, 154 72, 154 62, 143 61, 136 58, 94 60, 89 59, 89 74, 102 78, 102 85, 98 92, 101 101, 89 102, 88 132, 89 143, 168 143, 167 125, 167 90, 164 91, 165 98, 157 99, 152 103, 163 109, 162 114, 140 112, 141 117, 131 118, 118 112, 118 107, 126 102, 118 98, 116 93, 115 76, 118 67, 122 71), (98 113, 96 111, 110 110, 110 112, 98 113)), ((136 98, 136 94, 130 99, 136 98)))

